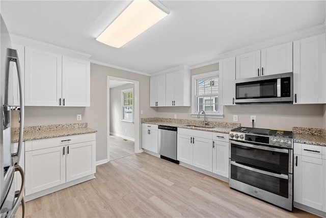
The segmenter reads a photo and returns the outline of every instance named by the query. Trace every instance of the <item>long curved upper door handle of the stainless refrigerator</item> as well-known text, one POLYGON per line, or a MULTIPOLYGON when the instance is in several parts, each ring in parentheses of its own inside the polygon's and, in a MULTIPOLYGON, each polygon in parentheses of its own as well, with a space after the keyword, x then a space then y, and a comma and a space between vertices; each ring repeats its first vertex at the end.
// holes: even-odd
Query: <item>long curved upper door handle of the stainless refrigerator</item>
MULTIPOLYGON (((19 85, 19 100, 20 100, 20 130, 19 130, 19 140, 18 140, 18 149, 17 155, 13 156, 13 164, 16 165, 19 163, 20 153, 21 153, 21 146, 23 140, 23 132, 24 132, 24 94, 22 89, 22 78, 21 78, 21 70, 19 64, 19 58, 17 55, 17 50, 11 49, 10 55, 8 56, 8 62, 15 62, 17 67, 17 74, 18 74, 18 85, 19 85)), ((8 64, 9 66, 9 64, 8 64)), ((9 70, 9 68, 8 68, 9 70)))

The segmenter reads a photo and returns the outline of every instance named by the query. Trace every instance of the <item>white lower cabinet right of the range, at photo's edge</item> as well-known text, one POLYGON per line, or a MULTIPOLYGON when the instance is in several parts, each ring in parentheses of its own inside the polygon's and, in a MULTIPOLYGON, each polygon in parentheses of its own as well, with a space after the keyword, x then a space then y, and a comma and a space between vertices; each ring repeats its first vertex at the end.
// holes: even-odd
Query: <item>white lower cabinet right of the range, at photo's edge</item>
POLYGON ((324 149, 311 144, 294 144, 293 201, 326 212, 324 149))

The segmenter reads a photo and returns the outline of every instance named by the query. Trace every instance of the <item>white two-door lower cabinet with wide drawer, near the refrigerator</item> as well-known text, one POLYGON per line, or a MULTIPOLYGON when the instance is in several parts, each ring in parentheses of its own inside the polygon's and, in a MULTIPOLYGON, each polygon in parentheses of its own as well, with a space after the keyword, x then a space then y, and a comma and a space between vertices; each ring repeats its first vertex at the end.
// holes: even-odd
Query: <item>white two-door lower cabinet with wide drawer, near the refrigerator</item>
POLYGON ((26 141, 25 195, 94 174, 95 146, 95 133, 26 141))

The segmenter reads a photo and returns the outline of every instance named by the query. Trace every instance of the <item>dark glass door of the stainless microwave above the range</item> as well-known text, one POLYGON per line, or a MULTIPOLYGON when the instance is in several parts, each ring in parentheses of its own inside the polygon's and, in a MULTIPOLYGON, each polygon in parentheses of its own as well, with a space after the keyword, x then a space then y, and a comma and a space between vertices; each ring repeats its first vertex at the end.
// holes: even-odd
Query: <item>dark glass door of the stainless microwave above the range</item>
POLYGON ((277 98, 277 79, 235 84, 236 99, 277 98))

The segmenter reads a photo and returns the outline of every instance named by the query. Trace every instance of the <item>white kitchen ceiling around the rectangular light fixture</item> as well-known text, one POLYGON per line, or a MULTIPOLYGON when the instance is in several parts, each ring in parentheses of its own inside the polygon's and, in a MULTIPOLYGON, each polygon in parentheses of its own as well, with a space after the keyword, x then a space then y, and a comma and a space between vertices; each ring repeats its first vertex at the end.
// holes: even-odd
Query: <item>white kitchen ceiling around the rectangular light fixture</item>
POLYGON ((127 1, 1 1, 12 34, 91 54, 152 74, 216 60, 219 54, 320 25, 324 1, 161 1, 171 13, 116 49, 95 38, 127 1))

